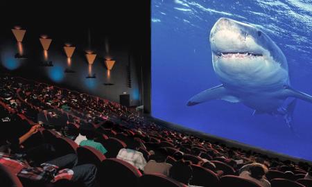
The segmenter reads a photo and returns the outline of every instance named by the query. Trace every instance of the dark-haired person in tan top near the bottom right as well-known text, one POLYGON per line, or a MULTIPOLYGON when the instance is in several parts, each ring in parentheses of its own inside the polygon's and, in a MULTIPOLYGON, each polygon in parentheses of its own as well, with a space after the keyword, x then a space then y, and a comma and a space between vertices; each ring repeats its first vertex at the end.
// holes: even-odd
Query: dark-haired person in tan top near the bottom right
POLYGON ((248 170, 243 170, 243 172, 241 172, 239 177, 254 181, 263 187, 270 187, 270 182, 264 178, 266 174, 266 169, 264 167, 265 166, 260 163, 252 163, 248 170))

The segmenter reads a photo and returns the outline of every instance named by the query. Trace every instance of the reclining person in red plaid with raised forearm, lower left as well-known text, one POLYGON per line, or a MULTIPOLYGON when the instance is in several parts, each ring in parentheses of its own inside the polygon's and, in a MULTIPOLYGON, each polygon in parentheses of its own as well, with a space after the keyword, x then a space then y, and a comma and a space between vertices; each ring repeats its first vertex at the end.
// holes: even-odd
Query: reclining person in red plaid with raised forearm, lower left
MULTIPOLYGON (((39 128, 40 125, 34 125, 31 130, 17 140, 17 143, 20 145, 26 141, 39 128)), ((33 168, 24 159, 25 155, 12 152, 10 149, 12 144, 8 143, 6 139, 0 141, 0 164, 6 166, 21 181, 41 181, 49 184, 60 179, 68 179, 74 182, 82 182, 87 187, 96 186, 96 166, 92 164, 76 166, 76 154, 67 154, 63 157, 46 161, 40 167, 33 168)))

